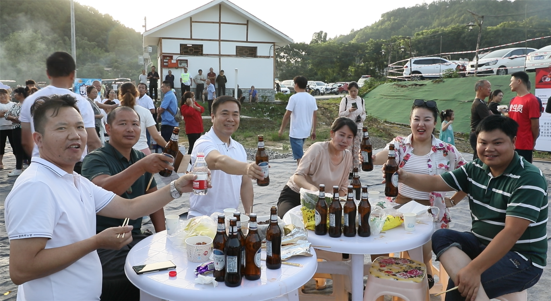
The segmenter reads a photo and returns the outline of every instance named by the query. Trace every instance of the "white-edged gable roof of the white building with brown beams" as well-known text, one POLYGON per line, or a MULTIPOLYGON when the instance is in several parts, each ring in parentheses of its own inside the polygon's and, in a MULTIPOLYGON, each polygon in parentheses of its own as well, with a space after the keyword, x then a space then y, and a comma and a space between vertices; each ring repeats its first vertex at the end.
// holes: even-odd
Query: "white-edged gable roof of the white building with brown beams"
MULTIPOLYGON (((273 28, 272 26, 268 25, 266 22, 262 21, 261 19, 258 19, 257 17, 255 17, 254 15, 250 14, 249 12, 247 12, 246 10, 240 8, 239 6, 236 6, 234 3, 231 3, 230 1, 228 0, 213 0, 207 4, 204 4, 203 6, 201 7, 198 7, 196 9, 193 9, 193 10, 190 10, 189 12, 181 15, 180 17, 176 17, 174 19, 171 19, 169 21, 166 21, 165 23, 161 24, 161 25, 158 25, 158 26, 155 26, 154 28, 150 29, 150 30, 147 30, 143 33, 143 37, 145 39, 145 37, 147 36, 151 36, 151 37, 156 37, 155 36, 155 32, 160 30, 160 29, 163 29, 163 28, 166 28, 172 24, 175 24, 183 19, 186 19, 186 18, 189 18, 189 17, 192 17, 193 15, 199 13, 199 12, 202 12, 203 10, 207 10, 209 8, 212 8, 213 6, 217 6, 218 4, 222 4, 232 10, 234 10, 234 12, 236 12, 237 14, 240 14, 242 15, 243 17, 245 17, 246 19, 248 20, 251 20, 253 21, 254 23, 256 23, 257 25, 260 25, 261 28, 265 29, 266 31, 268 31, 269 33, 275 35, 275 36, 278 36, 280 37, 283 42, 285 44, 291 44, 293 43, 293 39, 291 39, 289 36, 285 35, 284 33, 282 33, 281 31, 273 28)), ((278 43, 279 44, 279 43, 278 43)))

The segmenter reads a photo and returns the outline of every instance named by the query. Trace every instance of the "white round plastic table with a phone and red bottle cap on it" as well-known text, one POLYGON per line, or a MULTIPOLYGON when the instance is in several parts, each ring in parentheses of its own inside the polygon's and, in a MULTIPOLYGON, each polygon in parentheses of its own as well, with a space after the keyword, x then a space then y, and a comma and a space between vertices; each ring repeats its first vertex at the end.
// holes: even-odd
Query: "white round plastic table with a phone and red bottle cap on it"
MULTIPOLYGON (((261 277, 256 281, 246 280, 239 287, 226 287, 224 282, 197 284, 194 282, 195 268, 200 264, 188 262, 187 254, 172 246, 166 237, 166 231, 151 235, 140 241, 126 257, 125 273, 130 282, 140 289, 141 301, 144 300, 267 300, 288 294, 288 299, 298 301, 298 289, 308 282, 316 272, 316 252, 314 256, 294 256, 288 262, 303 267, 282 265, 279 270, 269 270, 266 262, 261 262, 261 277), (176 265, 176 277, 169 277, 169 271, 159 271, 137 275, 132 266, 171 260, 176 265)), ((266 252, 262 251, 266 259, 266 252)), ((174 271, 174 270, 172 270, 174 271)), ((209 276, 207 274, 207 276, 209 276)), ((210 274, 212 276, 212 273, 210 274)))

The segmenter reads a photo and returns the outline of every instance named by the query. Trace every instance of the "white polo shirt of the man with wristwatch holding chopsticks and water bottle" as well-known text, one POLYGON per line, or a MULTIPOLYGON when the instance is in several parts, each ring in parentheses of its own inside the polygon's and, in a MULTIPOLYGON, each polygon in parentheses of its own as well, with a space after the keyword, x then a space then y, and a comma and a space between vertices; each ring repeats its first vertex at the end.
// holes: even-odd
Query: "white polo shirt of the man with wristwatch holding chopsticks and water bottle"
MULTIPOLYGON (((93 237, 96 213, 115 193, 42 158, 32 162, 4 202, 10 241, 45 237, 46 249, 52 249, 93 237)), ((17 300, 99 300, 101 280, 100 259, 93 251, 59 272, 21 284, 17 300)))

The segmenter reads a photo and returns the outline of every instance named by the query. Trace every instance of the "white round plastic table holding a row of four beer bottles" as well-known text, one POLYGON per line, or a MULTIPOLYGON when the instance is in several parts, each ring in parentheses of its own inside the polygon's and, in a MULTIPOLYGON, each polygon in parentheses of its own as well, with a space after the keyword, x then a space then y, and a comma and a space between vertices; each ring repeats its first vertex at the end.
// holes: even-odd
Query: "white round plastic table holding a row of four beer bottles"
MULTIPOLYGON (((302 219, 301 205, 290 209, 285 213, 284 219, 289 214, 295 214, 302 219)), ((314 231, 308 230, 308 241, 316 249, 350 254, 350 286, 352 288, 352 300, 363 300, 364 291, 364 255, 365 254, 387 254, 391 252, 408 251, 413 260, 423 262, 422 246, 430 240, 434 232, 434 223, 415 224, 415 231, 407 232, 402 225, 396 228, 386 230, 379 235, 370 235, 369 237, 329 237, 326 235, 316 235, 314 231), (322 248, 320 246, 329 246, 322 248)), ((334 270, 337 266, 331 265, 332 262, 320 262, 318 273, 332 273, 331 269, 323 268, 324 265, 331 266, 334 270), (320 270, 321 268, 321 270, 320 270), (329 270, 329 271, 327 271, 329 270)), ((340 264, 335 262, 335 264, 340 264)))

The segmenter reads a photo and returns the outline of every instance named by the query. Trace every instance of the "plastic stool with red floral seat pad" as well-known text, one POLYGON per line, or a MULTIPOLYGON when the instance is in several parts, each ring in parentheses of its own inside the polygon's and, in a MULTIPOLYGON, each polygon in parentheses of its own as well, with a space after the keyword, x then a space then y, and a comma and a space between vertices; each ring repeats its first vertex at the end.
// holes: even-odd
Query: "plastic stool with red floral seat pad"
POLYGON ((406 301, 429 300, 429 283, 423 262, 398 257, 377 257, 369 269, 364 301, 392 295, 406 301))

